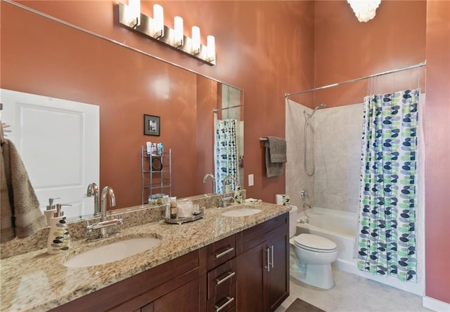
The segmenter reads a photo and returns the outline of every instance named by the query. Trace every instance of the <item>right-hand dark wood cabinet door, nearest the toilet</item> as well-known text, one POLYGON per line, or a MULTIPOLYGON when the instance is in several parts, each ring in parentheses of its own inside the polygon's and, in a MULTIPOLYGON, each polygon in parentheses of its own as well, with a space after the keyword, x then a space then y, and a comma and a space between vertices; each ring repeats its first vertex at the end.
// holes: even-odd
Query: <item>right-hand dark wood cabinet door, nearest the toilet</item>
POLYGON ((269 239, 270 269, 268 271, 267 297, 269 311, 275 311, 289 295, 288 231, 280 226, 269 239))

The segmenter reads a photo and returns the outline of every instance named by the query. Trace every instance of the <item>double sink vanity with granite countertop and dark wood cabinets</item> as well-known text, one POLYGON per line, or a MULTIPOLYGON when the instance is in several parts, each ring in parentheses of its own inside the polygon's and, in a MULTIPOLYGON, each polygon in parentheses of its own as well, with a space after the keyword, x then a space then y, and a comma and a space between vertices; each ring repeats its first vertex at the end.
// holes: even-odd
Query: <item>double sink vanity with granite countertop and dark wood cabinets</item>
POLYGON ((75 222, 68 252, 1 259, 1 311, 274 311, 289 292, 288 207, 198 201, 195 222, 114 210, 117 236, 86 243, 75 222))

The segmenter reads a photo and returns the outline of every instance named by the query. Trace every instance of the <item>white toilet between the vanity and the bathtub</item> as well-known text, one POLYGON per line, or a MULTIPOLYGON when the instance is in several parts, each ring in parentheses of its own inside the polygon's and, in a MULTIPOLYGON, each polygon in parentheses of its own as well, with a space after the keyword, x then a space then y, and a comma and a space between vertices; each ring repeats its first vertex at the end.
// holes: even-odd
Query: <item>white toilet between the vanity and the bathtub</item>
POLYGON ((338 246, 328 238, 300 234, 297 229, 298 208, 289 212, 290 276, 308 285, 330 289, 334 285, 331 262, 338 259, 338 246))

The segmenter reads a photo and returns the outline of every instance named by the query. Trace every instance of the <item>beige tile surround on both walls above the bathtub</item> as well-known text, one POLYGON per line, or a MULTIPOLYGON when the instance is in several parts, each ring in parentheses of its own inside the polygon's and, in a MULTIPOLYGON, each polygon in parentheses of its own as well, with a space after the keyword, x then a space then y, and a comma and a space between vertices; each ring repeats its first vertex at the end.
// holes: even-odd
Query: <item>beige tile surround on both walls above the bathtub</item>
POLYGON ((304 202, 316 207, 357 212, 361 163, 361 123, 363 105, 352 104, 319 109, 311 119, 314 128, 313 177, 304 172, 304 113, 311 109, 286 102, 286 193, 302 211, 304 202), (300 192, 309 198, 303 201, 300 192))

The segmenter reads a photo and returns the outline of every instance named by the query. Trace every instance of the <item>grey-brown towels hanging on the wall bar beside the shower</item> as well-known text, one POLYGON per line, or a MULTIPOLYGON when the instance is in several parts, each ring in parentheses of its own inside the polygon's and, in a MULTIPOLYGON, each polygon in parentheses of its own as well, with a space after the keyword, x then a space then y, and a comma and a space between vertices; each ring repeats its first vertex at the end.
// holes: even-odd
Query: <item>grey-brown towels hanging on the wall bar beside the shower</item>
POLYGON ((266 176, 277 177, 283 174, 286 162, 286 141, 280 137, 267 137, 266 141, 266 176))

